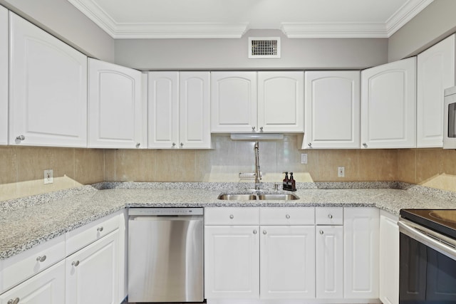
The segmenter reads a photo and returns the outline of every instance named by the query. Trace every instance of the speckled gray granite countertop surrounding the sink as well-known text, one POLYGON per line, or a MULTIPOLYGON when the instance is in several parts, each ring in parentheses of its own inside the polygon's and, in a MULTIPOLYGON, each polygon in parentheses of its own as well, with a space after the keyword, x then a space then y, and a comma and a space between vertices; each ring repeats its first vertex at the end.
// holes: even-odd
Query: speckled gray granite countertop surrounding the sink
POLYGON ((373 206, 395 215, 404 208, 456 209, 455 192, 380 186, 383 189, 301 187, 294 192, 299 199, 293 201, 222 201, 217 199, 221 193, 246 190, 219 183, 105 183, 98 189, 85 187, 60 196, 4 201, 0 202, 0 260, 128 207, 373 206))

